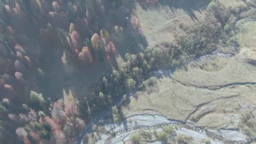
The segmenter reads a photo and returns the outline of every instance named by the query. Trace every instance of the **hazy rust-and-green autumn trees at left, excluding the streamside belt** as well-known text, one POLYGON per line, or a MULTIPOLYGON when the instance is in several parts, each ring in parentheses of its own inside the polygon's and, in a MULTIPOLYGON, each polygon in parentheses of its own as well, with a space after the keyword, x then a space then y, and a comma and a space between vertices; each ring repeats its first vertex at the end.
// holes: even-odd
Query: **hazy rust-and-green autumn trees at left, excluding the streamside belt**
POLYGON ((72 92, 62 101, 44 94, 47 69, 51 63, 87 69, 109 62, 116 54, 111 35, 122 34, 119 25, 128 16, 122 5, 120 0, 0 0, 0 143, 75 141, 85 127, 79 103, 72 92))

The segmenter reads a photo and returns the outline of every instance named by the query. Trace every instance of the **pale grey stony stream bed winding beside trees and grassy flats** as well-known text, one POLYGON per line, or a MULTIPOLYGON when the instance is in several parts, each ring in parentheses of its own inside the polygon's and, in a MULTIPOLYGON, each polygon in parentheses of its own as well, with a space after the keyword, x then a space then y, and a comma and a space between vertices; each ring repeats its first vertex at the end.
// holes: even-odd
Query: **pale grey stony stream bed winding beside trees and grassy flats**
MULTIPOLYGON (((235 51, 237 51, 237 48, 235 48, 235 51)), ((217 55, 225 58, 233 56, 231 54, 225 54, 215 50, 203 56, 198 56, 195 59, 190 59, 187 62, 185 62, 185 64, 182 64, 178 67, 174 67, 172 69, 167 69, 167 70, 158 70, 158 71, 151 72, 151 76, 157 77, 160 75, 168 75, 169 77, 172 77, 172 73, 177 69, 183 68, 184 66, 186 66, 192 61, 200 61, 212 55, 217 55)), ((128 93, 127 95, 128 98, 134 96, 137 91, 138 89, 136 89, 131 93, 128 93)), ((120 104, 120 102, 121 102, 121 99, 118 101, 115 101, 111 107, 107 108, 105 111, 101 112, 98 116, 94 117, 93 120, 91 120, 91 122, 87 124, 87 127, 80 134, 75 144, 83 144, 83 139, 85 138, 85 136, 88 133, 93 132, 93 125, 99 124, 99 120, 104 119, 109 114, 111 114, 112 107, 117 104, 120 104)), ((108 131, 115 131, 117 133, 117 136, 115 136, 115 138, 112 139, 112 142, 114 141, 114 143, 116 144, 118 143, 122 144, 123 139, 124 140, 128 139, 131 133, 138 131, 139 128, 152 130, 152 129, 160 128, 161 125, 167 125, 167 124, 171 124, 176 127, 179 127, 178 129, 176 129, 177 134, 186 134, 188 136, 192 136, 193 139, 203 139, 203 138, 209 137, 211 139, 211 144, 223 144, 223 143, 233 144, 235 143, 234 141, 242 142, 242 143, 247 141, 246 136, 238 131, 232 131, 232 130, 221 130, 220 132, 215 130, 203 131, 201 128, 196 128, 195 125, 193 125, 192 123, 184 123, 179 120, 168 120, 166 117, 161 115, 132 115, 130 117, 127 117, 125 120, 123 120, 121 124, 107 122, 104 124, 104 128, 106 128, 108 131), (136 120, 136 123, 134 123, 134 120, 136 120), (232 135, 229 135, 229 133, 232 133, 232 135), (236 138, 232 139, 234 135, 236 136, 236 138)), ((111 139, 111 135, 104 133, 96 140, 96 143, 99 143, 99 144, 106 143, 106 141, 108 141, 109 139, 111 139)))

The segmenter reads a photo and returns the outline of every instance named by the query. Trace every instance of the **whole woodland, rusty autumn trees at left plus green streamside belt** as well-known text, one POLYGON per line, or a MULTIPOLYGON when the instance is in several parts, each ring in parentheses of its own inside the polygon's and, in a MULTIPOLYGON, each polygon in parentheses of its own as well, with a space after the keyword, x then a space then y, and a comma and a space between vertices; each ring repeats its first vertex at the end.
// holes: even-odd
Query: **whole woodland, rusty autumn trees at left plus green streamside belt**
MULTIPOLYGON (((133 6, 133 0, 0 0, 0 143, 73 143, 106 107, 153 85, 147 80, 153 70, 176 67, 220 45, 237 45, 239 13, 213 2, 204 22, 181 23, 184 34, 147 48, 133 6), (123 44, 133 41, 138 48, 125 51, 123 65, 117 66, 123 44), (99 70, 100 81, 88 82, 90 92, 80 94, 67 84, 69 77, 86 81, 86 72, 99 64, 111 70, 99 70)), ((122 118, 118 109, 112 109, 115 122, 122 118)))

